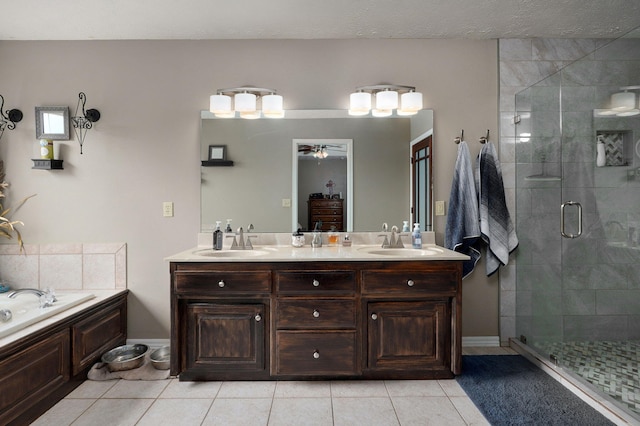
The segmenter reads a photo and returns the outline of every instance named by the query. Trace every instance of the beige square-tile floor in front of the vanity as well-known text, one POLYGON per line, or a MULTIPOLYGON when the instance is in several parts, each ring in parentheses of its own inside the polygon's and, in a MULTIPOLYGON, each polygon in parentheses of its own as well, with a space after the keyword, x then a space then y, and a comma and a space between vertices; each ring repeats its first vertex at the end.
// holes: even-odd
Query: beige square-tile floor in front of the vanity
MULTIPOLYGON (((465 348, 465 354, 512 354, 465 348)), ((86 381, 34 425, 488 425, 455 380, 86 381)))

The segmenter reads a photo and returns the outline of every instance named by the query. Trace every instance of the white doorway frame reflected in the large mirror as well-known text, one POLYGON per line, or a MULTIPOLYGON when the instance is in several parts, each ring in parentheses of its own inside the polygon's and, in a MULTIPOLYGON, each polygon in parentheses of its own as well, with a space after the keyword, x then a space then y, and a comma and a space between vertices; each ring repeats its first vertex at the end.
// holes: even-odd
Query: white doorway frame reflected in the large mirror
MULTIPOLYGON (((298 229, 298 145, 345 145, 347 147, 346 232, 353 232, 353 139, 293 139, 291 165, 291 229, 298 229)), ((311 226, 309 224, 309 226, 311 226)), ((344 232, 343 231, 343 232, 344 232)))

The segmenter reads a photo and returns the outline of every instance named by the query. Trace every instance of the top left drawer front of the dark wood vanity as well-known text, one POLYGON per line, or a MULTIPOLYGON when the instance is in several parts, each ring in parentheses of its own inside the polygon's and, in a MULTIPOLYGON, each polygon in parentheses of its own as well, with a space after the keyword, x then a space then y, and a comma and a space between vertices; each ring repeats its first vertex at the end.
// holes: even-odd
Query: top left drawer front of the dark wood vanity
POLYGON ((178 294, 270 293, 271 271, 176 271, 173 282, 178 294))

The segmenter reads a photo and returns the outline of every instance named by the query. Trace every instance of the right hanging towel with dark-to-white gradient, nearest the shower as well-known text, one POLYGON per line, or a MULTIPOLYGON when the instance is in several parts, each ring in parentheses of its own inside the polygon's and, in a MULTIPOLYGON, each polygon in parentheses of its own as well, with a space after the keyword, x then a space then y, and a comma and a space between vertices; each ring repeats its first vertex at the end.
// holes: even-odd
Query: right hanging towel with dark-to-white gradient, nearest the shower
POLYGON ((487 276, 509 262, 509 253, 518 247, 518 237, 504 196, 502 170, 491 142, 482 146, 475 170, 480 209, 480 232, 487 244, 487 276))

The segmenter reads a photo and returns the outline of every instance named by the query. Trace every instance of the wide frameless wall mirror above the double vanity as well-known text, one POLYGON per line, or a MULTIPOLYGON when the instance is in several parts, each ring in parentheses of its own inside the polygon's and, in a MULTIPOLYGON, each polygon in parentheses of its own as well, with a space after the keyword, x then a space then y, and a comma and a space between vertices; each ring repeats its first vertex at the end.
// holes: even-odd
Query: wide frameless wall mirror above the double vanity
MULTIPOLYGON (((257 232, 290 232, 307 222, 309 200, 340 198, 344 231, 402 226, 412 216, 412 145, 433 136, 433 112, 412 117, 350 117, 344 110, 287 111, 284 119, 219 119, 201 112, 200 158, 225 145, 231 167, 201 168, 201 230, 216 221, 257 232), (345 142, 350 141, 350 142, 345 142), (317 146, 316 146, 317 145, 317 146), (327 156, 313 156, 325 147, 327 156), (351 165, 329 162, 342 158, 351 165), (298 166, 297 173, 294 172, 298 166), (315 179, 315 180, 314 180, 315 179), (330 183, 331 181, 331 183, 330 183)), ((431 170, 421 174, 423 210, 430 212, 431 170), (426 201, 425 201, 426 200, 426 201), (426 206, 425 206, 426 203, 426 206)), ((423 229, 431 229, 431 214, 423 229)))

